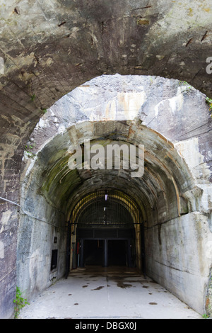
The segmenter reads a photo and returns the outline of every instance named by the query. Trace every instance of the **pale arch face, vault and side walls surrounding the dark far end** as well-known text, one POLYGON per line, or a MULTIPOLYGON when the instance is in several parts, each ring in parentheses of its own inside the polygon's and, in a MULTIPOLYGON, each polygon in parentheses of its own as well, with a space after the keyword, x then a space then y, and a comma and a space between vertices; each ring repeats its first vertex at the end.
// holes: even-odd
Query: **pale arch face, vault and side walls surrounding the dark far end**
MULTIPOLYGON (((28 146, 35 147, 25 152, 21 176, 20 203, 30 224, 27 217, 20 220, 18 283, 29 298, 51 283, 54 227, 65 227, 65 217, 81 196, 109 186, 129 194, 141 208, 148 275, 204 313, 207 293, 211 303, 212 263, 211 117, 205 98, 176 80, 115 75, 93 79, 49 108, 30 137, 28 146), (143 144, 143 177, 131 179, 124 170, 71 171, 69 147, 84 139, 104 145, 113 140, 143 144), (42 228, 42 247, 35 218, 54 224, 42 228), (45 256, 40 268, 36 256, 45 256), (42 285, 36 278, 39 269, 42 285)), ((66 237, 61 230, 55 278, 65 269, 66 237)))

